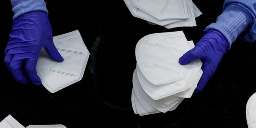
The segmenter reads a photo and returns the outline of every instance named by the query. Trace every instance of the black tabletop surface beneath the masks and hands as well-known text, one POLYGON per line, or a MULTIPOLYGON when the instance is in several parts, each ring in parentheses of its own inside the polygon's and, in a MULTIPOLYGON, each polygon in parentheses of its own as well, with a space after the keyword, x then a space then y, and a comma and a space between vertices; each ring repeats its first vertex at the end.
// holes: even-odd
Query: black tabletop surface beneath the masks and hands
POLYGON ((4 50, 13 12, 10 0, 0 0, 0 120, 11 114, 24 127, 248 128, 246 103, 256 92, 255 42, 236 40, 204 90, 183 100, 175 110, 145 116, 132 110, 138 40, 152 33, 182 30, 196 44, 202 30, 221 14, 224 0, 193 2, 203 13, 196 18, 197 26, 167 29, 132 16, 123 0, 47 0, 53 36, 79 30, 91 53, 82 80, 52 94, 42 85, 19 84, 7 70, 4 50))

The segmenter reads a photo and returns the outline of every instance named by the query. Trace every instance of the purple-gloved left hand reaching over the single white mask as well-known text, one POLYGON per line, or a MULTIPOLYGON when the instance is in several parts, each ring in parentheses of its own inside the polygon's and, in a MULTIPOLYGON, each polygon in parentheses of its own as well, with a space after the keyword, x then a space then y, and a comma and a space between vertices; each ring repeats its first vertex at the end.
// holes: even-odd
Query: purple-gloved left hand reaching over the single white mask
POLYGON ((4 62, 15 80, 21 84, 28 84, 29 80, 36 85, 41 84, 36 63, 43 47, 53 60, 64 60, 53 43, 52 27, 46 12, 28 12, 14 19, 4 62))

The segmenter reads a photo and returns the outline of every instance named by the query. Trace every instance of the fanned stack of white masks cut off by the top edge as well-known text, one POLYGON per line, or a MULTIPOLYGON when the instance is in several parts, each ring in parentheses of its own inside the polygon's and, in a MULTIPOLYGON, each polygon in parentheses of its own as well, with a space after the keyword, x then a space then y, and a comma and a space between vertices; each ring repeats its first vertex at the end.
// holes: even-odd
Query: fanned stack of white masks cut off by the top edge
POLYGON ((134 17, 165 28, 196 26, 202 12, 192 0, 124 0, 134 17))

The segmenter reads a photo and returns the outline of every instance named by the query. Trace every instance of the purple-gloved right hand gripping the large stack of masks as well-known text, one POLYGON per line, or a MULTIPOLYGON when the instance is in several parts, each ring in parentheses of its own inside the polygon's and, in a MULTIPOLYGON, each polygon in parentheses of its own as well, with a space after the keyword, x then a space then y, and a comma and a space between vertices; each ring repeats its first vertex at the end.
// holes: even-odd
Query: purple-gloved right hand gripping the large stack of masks
POLYGON ((194 94, 201 92, 209 81, 210 77, 216 72, 222 56, 228 52, 229 46, 226 38, 216 31, 210 30, 199 40, 194 48, 186 52, 179 59, 179 63, 184 65, 194 60, 201 59, 203 74, 197 84, 194 94))

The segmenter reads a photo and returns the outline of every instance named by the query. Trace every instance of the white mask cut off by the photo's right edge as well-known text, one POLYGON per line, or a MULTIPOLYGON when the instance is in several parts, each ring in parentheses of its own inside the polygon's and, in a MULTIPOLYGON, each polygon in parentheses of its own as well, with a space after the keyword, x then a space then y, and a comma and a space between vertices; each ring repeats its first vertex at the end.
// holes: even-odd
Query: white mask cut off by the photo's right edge
POLYGON ((256 93, 252 94, 247 101, 246 121, 248 128, 256 128, 256 93))

